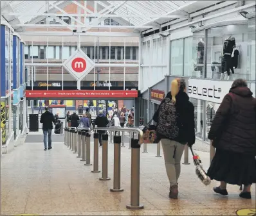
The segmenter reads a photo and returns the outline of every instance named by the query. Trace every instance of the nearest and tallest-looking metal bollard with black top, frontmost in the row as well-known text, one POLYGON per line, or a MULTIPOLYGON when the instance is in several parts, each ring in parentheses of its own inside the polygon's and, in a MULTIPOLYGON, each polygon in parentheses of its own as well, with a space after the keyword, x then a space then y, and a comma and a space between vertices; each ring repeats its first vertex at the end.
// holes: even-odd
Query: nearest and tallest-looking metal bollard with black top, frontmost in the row
POLYGON ((127 204, 129 209, 142 209, 143 204, 140 204, 140 144, 139 140, 131 138, 131 203, 127 204))

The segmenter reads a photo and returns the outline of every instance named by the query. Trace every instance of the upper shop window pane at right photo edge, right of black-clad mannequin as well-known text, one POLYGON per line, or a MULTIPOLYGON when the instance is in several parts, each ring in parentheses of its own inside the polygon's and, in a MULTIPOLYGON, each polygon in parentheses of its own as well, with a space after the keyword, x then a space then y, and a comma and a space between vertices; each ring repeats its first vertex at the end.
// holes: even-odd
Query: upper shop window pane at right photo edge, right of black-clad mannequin
POLYGON ((247 74, 249 80, 256 80, 256 50, 255 50, 255 17, 248 20, 248 64, 247 74))

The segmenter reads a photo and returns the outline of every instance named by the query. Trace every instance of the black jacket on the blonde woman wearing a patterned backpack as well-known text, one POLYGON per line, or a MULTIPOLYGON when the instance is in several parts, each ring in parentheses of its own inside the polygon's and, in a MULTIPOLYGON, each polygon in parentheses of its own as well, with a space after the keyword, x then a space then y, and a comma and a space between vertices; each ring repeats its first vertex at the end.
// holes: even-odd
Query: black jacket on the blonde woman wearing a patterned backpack
MULTIPOLYGON (((167 98, 172 98, 170 92, 166 96, 167 98)), ((161 104, 164 102, 161 102, 161 104)), ((160 106, 161 106, 160 104, 160 106)), ((185 92, 179 92, 176 96, 176 112, 178 114, 178 128, 179 135, 175 141, 180 142, 181 144, 193 145, 196 140, 195 135, 195 119, 194 119, 194 105, 189 101, 189 97, 185 92)), ((158 115, 160 112, 160 107, 154 113, 153 120, 158 122, 158 115)), ((158 137, 166 138, 166 137, 158 137)))

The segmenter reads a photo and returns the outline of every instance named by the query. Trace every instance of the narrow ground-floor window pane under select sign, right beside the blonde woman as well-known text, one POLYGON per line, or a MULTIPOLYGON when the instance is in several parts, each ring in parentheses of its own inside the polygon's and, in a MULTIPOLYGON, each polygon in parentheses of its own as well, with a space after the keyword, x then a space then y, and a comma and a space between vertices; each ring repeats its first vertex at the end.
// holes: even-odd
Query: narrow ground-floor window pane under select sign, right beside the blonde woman
POLYGON ((204 101, 199 99, 190 98, 192 104, 195 108, 195 129, 196 137, 203 139, 203 103, 204 101))

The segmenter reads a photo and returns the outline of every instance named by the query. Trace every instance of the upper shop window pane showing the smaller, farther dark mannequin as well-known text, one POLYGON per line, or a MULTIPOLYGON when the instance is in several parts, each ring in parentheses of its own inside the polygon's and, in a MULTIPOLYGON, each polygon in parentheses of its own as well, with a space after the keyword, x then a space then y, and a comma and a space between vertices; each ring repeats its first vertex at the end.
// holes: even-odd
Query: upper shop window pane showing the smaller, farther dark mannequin
POLYGON ((193 47, 192 47, 192 77, 204 78, 205 74, 205 31, 196 31, 193 33, 193 47))

